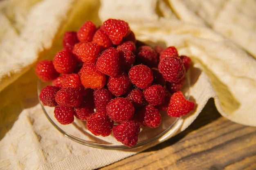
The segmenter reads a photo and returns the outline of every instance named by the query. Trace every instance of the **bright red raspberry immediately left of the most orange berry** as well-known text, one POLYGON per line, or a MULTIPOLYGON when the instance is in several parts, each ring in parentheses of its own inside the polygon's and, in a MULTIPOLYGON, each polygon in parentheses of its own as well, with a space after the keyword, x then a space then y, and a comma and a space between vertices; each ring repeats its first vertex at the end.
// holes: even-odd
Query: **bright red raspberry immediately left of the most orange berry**
POLYGON ((76 73, 69 74, 65 76, 65 79, 63 79, 63 82, 61 84, 62 88, 65 87, 73 87, 73 88, 79 88, 82 85, 80 76, 76 73))

